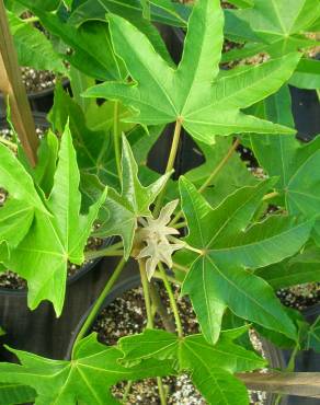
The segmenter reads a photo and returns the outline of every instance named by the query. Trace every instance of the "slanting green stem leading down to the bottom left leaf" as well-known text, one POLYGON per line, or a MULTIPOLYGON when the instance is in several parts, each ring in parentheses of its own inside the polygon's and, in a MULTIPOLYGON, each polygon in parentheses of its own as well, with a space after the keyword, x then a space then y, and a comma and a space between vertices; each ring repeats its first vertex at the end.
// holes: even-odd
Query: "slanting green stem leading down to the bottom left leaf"
POLYGON ((123 268, 125 267, 125 259, 122 258, 119 261, 119 263, 117 264, 113 275, 111 276, 111 278, 107 280, 103 291, 101 292, 101 294, 99 296, 98 300, 94 302, 94 305, 92 306, 92 310, 90 311, 90 314, 89 316, 87 317, 84 324, 82 325, 80 332, 78 333, 77 335, 77 338, 73 343, 73 348, 72 348, 72 356, 73 356, 73 350, 75 350, 75 347, 77 346, 77 344, 85 336, 88 329, 90 328, 90 326, 92 325, 93 321, 95 320, 106 296, 110 293, 111 289, 113 288, 114 284, 116 282, 117 278, 119 277, 123 268))

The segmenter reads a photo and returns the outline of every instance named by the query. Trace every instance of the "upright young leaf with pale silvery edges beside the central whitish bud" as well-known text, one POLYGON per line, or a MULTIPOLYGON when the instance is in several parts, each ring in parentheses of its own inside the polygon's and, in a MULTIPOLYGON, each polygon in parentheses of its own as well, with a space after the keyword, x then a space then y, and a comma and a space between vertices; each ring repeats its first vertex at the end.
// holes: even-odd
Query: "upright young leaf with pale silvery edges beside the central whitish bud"
POLYGON ((161 176, 156 183, 144 187, 138 180, 138 166, 129 143, 123 137, 122 192, 110 188, 104 207, 108 217, 99 228, 100 236, 121 235, 124 241, 125 257, 133 247, 135 230, 139 217, 150 217, 150 205, 161 192, 171 173, 161 176))

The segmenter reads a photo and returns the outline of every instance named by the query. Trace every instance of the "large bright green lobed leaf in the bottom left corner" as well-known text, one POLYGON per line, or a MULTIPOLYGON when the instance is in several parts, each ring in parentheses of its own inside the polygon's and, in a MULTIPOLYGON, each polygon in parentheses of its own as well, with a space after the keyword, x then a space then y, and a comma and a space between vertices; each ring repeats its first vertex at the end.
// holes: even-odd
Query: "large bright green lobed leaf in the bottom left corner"
POLYGON ((125 368, 118 363, 122 351, 99 344, 95 334, 76 346, 70 361, 10 350, 18 356, 21 366, 1 363, 0 381, 32 386, 37 393, 36 405, 119 404, 110 392, 117 382, 174 373, 169 362, 152 359, 125 368))

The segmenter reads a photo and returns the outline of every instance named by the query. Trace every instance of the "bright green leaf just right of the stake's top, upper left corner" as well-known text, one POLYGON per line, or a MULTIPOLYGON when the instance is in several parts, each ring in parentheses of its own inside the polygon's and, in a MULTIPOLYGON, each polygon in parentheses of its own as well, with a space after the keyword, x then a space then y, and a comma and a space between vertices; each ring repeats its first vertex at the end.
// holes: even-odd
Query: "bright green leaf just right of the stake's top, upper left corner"
POLYGON ((54 50, 49 39, 39 30, 19 19, 12 12, 8 11, 7 14, 19 63, 38 70, 53 70, 65 74, 67 70, 62 59, 54 50))

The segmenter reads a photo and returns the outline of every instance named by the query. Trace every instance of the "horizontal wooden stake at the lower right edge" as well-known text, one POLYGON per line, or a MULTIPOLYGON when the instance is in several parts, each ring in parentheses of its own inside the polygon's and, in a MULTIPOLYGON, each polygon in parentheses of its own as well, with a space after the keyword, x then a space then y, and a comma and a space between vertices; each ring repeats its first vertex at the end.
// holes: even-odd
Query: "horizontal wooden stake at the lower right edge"
POLYGON ((236 375, 249 390, 320 398, 320 372, 248 372, 236 375))

